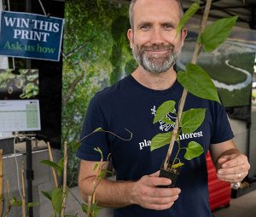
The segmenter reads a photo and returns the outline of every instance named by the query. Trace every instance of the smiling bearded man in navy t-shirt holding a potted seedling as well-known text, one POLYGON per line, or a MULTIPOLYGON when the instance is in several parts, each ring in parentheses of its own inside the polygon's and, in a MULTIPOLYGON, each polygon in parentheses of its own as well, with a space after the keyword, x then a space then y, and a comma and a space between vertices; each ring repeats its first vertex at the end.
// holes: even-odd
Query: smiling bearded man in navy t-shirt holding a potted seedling
MULTIPOLYGON (((185 165, 177 187, 157 187, 171 182, 159 177, 167 146, 151 152, 150 140, 155 134, 172 131, 170 124, 153 124, 155 109, 166 100, 175 100, 178 104, 183 91, 173 69, 187 33, 184 29, 176 33, 182 15, 181 3, 177 0, 131 1, 131 29, 127 36, 139 66, 131 76, 102 90, 90 101, 82 137, 99 127, 123 139, 130 137, 125 128, 132 132, 129 141, 113 134, 93 134, 82 141, 77 154, 82 159, 79 188, 86 201, 96 179, 93 168, 101 160, 94 147, 101 148, 105 166, 111 153, 117 180, 103 179, 96 188, 96 201, 101 206, 115 208, 114 216, 212 216, 205 159, 209 149, 219 179, 235 182, 247 175, 247 157, 231 140, 233 134, 224 108, 189 94, 184 110, 204 107, 207 114, 195 138, 183 138, 181 146, 195 140, 204 147, 205 154, 186 161, 181 153, 179 159, 185 165)), ((170 118, 173 121, 176 117, 170 118)))

